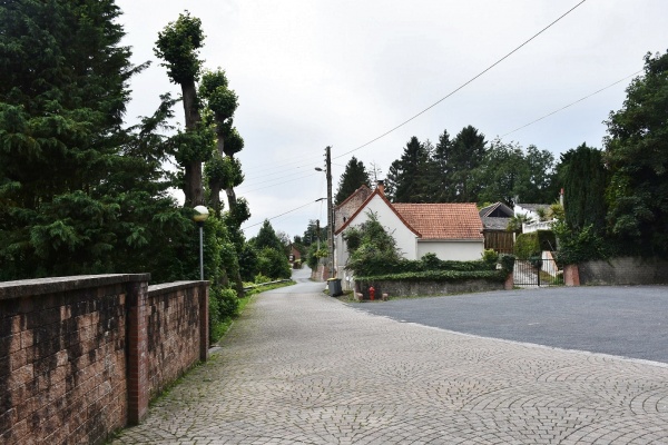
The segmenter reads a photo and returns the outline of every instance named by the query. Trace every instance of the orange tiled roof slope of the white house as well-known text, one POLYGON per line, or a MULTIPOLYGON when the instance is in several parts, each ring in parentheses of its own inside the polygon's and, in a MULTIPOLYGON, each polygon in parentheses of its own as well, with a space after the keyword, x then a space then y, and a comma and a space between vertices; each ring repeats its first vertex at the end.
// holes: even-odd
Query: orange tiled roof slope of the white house
POLYGON ((474 202, 393 204, 422 239, 482 239, 482 221, 474 202))

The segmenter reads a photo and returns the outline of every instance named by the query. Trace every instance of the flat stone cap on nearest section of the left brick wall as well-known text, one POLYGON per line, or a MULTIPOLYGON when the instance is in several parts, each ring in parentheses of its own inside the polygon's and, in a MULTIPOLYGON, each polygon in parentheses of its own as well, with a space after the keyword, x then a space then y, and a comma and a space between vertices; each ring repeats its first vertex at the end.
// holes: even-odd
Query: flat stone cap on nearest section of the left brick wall
POLYGON ((119 283, 148 283, 149 279, 150 274, 106 274, 0 281, 0 299, 56 294, 119 283))

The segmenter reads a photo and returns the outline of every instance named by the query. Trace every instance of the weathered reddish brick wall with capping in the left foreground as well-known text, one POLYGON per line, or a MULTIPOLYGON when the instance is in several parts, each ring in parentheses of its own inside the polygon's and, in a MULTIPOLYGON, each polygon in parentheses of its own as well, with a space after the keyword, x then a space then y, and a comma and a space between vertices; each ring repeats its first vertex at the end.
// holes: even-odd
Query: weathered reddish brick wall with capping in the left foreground
POLYGON ((206 283, 154 296, 144 274, 0 283, 0 443, 95 444, 139 422, 166 379, 206 359, 207 306, 206 283), (155 319, 165 322, 151 340, 155 319), (150 343, 163 340, 187 347, 149 358, 150 343), (160 359, 178 365, 151 392, 149 368, 160 359))

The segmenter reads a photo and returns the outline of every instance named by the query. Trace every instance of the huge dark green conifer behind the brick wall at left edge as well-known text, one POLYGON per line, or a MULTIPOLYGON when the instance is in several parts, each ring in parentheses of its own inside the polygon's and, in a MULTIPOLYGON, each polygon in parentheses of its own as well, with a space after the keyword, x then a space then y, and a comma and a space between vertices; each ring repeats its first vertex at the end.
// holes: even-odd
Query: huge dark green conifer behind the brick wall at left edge
POLYGON ((161 168, 168 109, 122 128, 146 65, 120 46, 119 16, 111 0, 0 8, 0 279, 196 269, 170 256, 191 222, 161 168))

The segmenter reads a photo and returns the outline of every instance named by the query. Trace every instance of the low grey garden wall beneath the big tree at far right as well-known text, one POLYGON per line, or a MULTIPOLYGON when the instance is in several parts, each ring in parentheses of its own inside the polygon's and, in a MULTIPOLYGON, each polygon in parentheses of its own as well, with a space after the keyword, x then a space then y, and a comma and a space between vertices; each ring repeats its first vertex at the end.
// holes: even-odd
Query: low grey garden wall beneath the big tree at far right
POLYGON ((668 284, 668 260, 622 257, 578 265, 581 285, 668 284))

